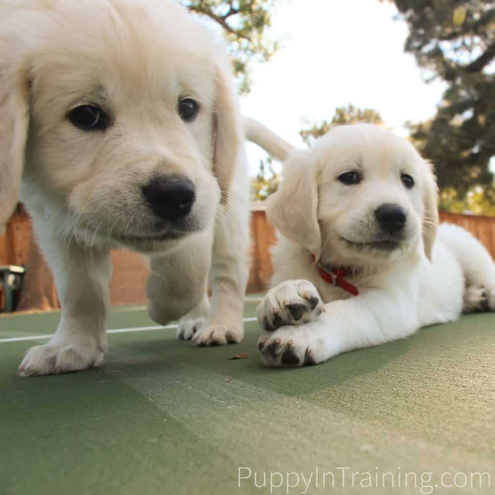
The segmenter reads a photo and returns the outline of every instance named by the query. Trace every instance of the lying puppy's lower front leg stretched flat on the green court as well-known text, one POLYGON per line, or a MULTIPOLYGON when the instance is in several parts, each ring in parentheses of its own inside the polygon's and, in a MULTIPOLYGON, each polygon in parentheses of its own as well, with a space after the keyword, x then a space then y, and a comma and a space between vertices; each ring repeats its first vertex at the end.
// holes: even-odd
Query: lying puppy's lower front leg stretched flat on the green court
MULTIPOLYGON (((261 305, 261 312, 272 307, 261 305)), ((258 314, 260 317, 264 318, 258 314)), ((264 333, 258 349, 267 366, 302 366, 321 363, 349 350, 401 339, 417 328, 415 296, 410 288, 393 292, 370 289, 357 297, 325 304, 324 312, 308 323, 280 326, 274 332, 264 333)))

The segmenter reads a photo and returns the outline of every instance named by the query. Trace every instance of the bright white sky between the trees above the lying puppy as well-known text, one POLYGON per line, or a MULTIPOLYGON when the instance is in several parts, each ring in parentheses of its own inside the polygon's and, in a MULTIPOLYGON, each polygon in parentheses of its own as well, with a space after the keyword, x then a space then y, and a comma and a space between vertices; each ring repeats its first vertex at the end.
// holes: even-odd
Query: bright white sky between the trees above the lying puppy
MULTIPOLYGON (((406 136, 407 120, 436 113, 445 86, 426 84, 414 57, 403 50, 408 28, 394 20, 394 3, 378 0, 276 0, 268 35, 283 47, 266 63, 251 65, 245 115, 304 147, 305 121, 331 119, 352 103, 378 110, 387 127, 406 136)), ((266 156, 248 145, 249 172, 266 156)))

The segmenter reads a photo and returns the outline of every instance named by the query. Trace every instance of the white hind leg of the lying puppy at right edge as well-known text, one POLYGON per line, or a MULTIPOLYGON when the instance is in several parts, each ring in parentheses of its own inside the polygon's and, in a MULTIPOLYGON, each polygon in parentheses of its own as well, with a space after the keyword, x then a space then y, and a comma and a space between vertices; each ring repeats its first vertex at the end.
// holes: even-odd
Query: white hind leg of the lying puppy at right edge
POLYGON ((439 232, 462 268, 466 284, 462 311, 495 311, 495 263, 490 253, 460 227, 444 224, 439 232))

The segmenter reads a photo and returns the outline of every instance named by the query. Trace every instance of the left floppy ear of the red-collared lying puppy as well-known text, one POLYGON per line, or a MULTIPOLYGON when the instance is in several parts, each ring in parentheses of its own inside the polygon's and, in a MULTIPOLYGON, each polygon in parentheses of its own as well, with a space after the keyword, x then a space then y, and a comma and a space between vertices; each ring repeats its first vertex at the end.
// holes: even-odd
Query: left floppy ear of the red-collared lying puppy
POLYGON ((308 248, 318 260, 321 232, 317 174, 304 151, 290 156, 278 190, 267 199, 267 217, 285 237, 308 248))

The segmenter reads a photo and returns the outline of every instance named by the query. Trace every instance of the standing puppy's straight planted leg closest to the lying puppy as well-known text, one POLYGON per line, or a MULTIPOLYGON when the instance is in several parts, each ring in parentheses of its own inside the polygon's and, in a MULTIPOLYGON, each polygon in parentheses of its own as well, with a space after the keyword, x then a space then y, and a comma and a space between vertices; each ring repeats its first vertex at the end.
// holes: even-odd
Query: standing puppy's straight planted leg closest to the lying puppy
POLYGON ((196 346, 241 342, 248 275, 249 224, 247 198, 232 197, 217 216, 211 266, 212 310, 193 336, 196 346))

